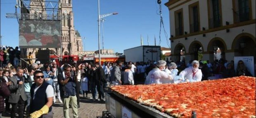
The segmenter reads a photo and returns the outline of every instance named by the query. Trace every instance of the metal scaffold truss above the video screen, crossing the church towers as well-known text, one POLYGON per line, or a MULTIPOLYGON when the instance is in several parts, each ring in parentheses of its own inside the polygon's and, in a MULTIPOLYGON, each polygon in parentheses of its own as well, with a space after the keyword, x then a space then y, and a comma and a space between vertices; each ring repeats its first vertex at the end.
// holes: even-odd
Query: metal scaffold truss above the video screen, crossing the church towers
POLYGON ((62 0, 17 0, 15 13, 7 13, 6 18, 19 20, 64 20, 71 19, 71 15, 64 15, 61 6, 71 4, 62 0))

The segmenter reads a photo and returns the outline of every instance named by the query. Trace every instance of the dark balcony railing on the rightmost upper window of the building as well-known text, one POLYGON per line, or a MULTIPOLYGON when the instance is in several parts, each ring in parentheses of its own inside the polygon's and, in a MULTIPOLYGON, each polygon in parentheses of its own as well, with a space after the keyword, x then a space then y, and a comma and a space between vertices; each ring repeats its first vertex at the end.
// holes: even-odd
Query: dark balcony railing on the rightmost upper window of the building
POLYGON ((239 9, 239 11, 235 11, 234 13, 235 16, 235 23, 240 23, 244 22, 247 20, 250 20, 250 8, 242 8, 239 9))

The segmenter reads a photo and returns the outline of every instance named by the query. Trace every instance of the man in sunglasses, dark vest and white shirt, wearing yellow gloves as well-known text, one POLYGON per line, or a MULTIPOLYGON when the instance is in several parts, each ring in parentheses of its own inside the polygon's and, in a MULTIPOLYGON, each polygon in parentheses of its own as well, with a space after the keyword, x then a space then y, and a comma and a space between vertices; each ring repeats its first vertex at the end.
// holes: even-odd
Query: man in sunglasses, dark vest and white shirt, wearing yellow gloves
POLYGON ((34 72, 34 81, 31 93, 31 114, 30 118, 53 118, 52 102, 54 90, 50 84, 44 81, 43 72, 36 70, 34 72))

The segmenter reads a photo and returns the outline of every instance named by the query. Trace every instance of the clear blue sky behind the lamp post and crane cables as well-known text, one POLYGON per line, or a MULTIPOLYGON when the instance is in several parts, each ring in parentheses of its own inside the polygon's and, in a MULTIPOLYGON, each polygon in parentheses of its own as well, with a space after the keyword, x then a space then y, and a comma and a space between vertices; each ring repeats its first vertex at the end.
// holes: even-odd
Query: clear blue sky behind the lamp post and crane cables
MULTIPOLYGON (((86 51, 98 50, 97 28, 97 0, 72 0, 74 25, 83 39, 86 51), (85 37, 85 43, 84 43, 85 37)), ((113 49, 114 52, 123 53, 123 50, 140 46, 140 35, 143 45, 159 44, 160 15, 157 0, 100 0, 100 14, 117 12, 117 15, 107 16, 104 19, 104 49, 113 49)), ((17 19, 6 18, 6 13, 15 13, 16 0, 0 0, 2 45, 19 45, 19 25, 17 19)), ((162 17, 170 38, 169 11, 162 0, 162 17)), ((102 30, 101 30, 102 32, 102 30)), ((101 49, 102 49, 102 36, 101 49)), ((170 42, 170 41, 169 41, 170 42)), ((168 47, 164 30, 161 29, 161 46, 168 47)))

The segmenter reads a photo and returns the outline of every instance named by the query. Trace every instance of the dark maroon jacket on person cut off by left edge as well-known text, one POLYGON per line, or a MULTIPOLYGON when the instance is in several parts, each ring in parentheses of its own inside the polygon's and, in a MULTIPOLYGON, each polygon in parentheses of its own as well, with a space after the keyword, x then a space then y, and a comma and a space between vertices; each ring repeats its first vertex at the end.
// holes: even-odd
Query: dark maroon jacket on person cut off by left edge
POLYGON ((0 82, 0 113, 5 110, 5 97, 10 95, 10 90, 5 82, 0 82))

